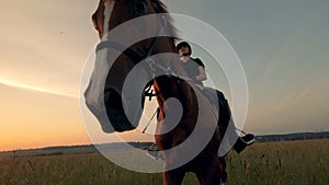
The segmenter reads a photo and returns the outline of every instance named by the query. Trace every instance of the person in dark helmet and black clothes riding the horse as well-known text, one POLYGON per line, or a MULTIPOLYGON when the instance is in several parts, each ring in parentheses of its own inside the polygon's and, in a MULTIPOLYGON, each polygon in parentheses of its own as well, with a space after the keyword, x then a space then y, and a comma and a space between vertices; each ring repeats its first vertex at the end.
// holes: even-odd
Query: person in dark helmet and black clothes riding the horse
MULTIPOLYGON (((198 58, 192 58, 192 48, 189 43, 181 42, 177 45, 177 50, 181 57, 181 61, 183 62, 183 68, 185 72, 188 73, 189 78, 191 78, 196 85, 202 86, 201 89, 204 92, 204 95, 208 97, 209 101, 216 100, 216 97, 212 97, 213 91, 209 93, 209 90, 213 90, 211 88, 204 88, 203 82, 207 79, 206 72, 205 72, 205 66, 198 58)), ((224 94, 217 90, 217 101, 219 106, 219 114, 222 115, 219 117, 219 130, 220 136, 223 137, 228 128, 229 123, 234 124, 231 119, 231 113, 229 105, 227 103, 227 100, 225 99, 224 94)), ((235 129, 232 129, 232 135, 238 135, 235 129)), ((243 137, 238 136, 238 140, 234 143, 234 149, 236 152, 240 153, 247 146, 250 146, 254 142, 254 136, 252 134, 246 134, 243 137)))

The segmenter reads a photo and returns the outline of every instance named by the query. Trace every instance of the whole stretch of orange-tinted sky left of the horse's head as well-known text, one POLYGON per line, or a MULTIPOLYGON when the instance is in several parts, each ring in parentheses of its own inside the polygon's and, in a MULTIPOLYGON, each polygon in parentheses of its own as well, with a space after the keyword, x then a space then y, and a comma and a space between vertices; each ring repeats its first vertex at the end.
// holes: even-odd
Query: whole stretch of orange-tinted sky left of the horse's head
POLYGON ((83 63, 98 42, 90 22, 97 4, 1 4, 0 151, 90 143, 78 96, 83 63))

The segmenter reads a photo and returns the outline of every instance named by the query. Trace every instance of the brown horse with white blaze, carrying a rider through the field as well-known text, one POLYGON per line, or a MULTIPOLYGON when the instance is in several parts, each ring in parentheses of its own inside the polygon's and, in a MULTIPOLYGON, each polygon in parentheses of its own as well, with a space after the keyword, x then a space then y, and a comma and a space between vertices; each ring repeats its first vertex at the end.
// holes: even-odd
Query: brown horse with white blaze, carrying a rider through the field
MULTIPOLYGON (((123 51, 111 65, 106 63, 107 61, 95 65, 84 92, 87 106, 100 120, 105 132, 134 129, 140 118, 140 109, 132 108, 132 105, 139 104, 141 96, 143 106, 145 96, 140 92, 144 91, 131 89, 131 93, 139 94, 139 102, 134 102, 122 93, 124 81, 140 60, 151 55, 172 54, 160 55, 156 60, 149 60, 151 62, 147 62, 148 65, 141 68, 143 72, 134 79, 136 83, 152 79, 149 84, 154 86, 159 105, 155 139, 164 159, 163 184, 180 185, 186 172, 194 172, 200 184, 218 185, 220 181, 226 181, 225 160, 217 155, 220 144, 218 116, 201 90, 184 78, 186 73, 175 55, 175 37, 160 36, 160 32, 156 32, 155 35, 159 36, 138 41, 122 49, 123 46, 113 41, 121 38, 111 39, 111 36, 106 36, 106 33, 116 26, 135 18, 157 13, 167 13, 166 7, 158 0, 100 0, 98 10, 92 15, 94 26, 103 41, 98 50, 109 47, 110 50, 114 50, 113 54, 115 50, 123 51), (104 71, 109 71, 105 77, 101 74, 104 71), (179 103, 172 100, 178 100, 179 103), (128 118, 126 112, 134 115, 133 118, 128 118), (178 112, 181 113, 179 118, 175 117, 178 112), (179 122, 174 123, 177 119, 179 122), (188 155, 191 159, 188 159, 188 155)), ((175 33, 168 14, 160 19, 151 18, 150 21, 140 24, 132 25, 123 32, 136 37, 147 30, 161 31, 168 35, 175 33)), ((109 57, 110 54, 105 56, 109 57)), ((141 85, 145 88, 146 84, 141 85)))

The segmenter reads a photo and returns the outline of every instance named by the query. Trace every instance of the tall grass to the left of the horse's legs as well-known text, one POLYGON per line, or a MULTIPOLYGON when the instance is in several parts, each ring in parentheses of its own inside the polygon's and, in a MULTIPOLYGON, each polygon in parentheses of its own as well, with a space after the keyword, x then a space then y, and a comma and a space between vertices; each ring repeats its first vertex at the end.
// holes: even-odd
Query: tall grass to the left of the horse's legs
POLYGON ((140 174, 109 162, 99 153, 2 159, 1 185, 160 184, 160 174, 140 174))

